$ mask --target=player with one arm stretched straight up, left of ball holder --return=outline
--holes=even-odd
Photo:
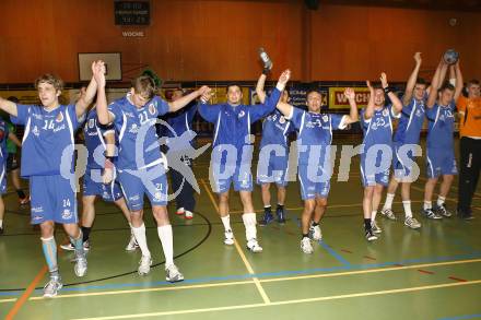
[[[394,154],[392,169],[394,175],[387,188],[386,202],[380,213],[389,218],[396,220],[392,212],[392,200],[395,199],[396,189],[401,183],[402,206],[404,208],[404,225],[417,229],[421,227],[421,223],[412,216],[411,210],[411,182],[419,175],[419,168],[415,165],[414,150],[419,149],[419,139],[424,122],[425,100],[426,100],[426,83],[423,79],[418,78],[421,68],[421,52],[414,55],[415,67],[409,76],[406,85],[404,95],[402,97],[402,111],[399,119],[398,128],[394,137]],[[415,166],[417,171],[413,171]]]

